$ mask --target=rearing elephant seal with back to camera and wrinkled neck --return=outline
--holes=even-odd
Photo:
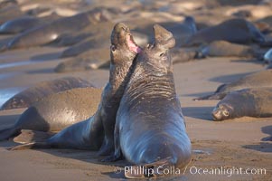
[[[117,111],[115,154],[105,161],[123,154],[136,165],[157,167],[153,163],[166,159],[165,167],[183,168],[190,162],[192,150],[168,54],[175,40],[158,24],[154,33],[155,43],[137,56]]]

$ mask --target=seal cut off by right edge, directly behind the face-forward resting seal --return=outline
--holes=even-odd
[[[221,100],[230,91],[260,87],[272,87],[272,70],[258,71],[242,77],[238,81],[222,84],[213,94],[194,100]]]

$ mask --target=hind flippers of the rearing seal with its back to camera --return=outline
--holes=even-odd
[[[131,166],[125,168],[125,176],[127,178],[150,178],[150,177],[163,177],[164,169],[174,167],[172,163],[172,157],[166,157],[164,159],[161,159],[159,161],[145,164],[143,166]]]

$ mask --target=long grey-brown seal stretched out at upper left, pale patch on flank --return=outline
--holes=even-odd
[[[64,33],[77,32],[82,28],[87,27],[89,24],[97,24],[100,21],[106,20],[108,20],[108,18],[100,9],[94,9],[71,17],[64,17],[53,21],[51,24],[43,24],[18,34],[13,40],[7,43],[6,47],[2,48],[2,51],[5,49],[10,50],[52,43],[57,39],[60,39],[61,35]]]

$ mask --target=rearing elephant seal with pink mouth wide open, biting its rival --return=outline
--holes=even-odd
[[[116,24],[111,34],[111,62],[109,81],[102,92],[94,116],[61,130],[42,143],[30,143],[21,148],[78,148],[99,150],[99,155],[109,155],[114,150],[114,128],[117,109],[125,86],[130,78],[136,53],[140,48],[134,43],[125,24]]]

